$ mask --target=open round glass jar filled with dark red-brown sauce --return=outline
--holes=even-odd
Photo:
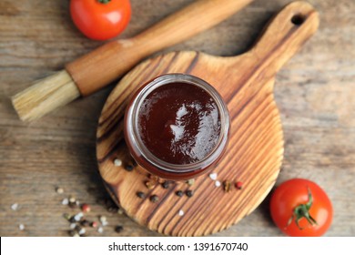
[[[167,74],[140,87],[127,105],[125,139],[137,164],[161,179],[195,179],[228,144],[228,108],[197,76]]]

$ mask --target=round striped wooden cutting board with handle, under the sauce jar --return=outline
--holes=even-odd
[[[273,97],[275,75],[319,26],[314,8],[305,2],[284,7],[258,42],[240,56],[172,52],[147,59],[131,70],[112,91],[97,128],[96,156],[107,190],[127,215],[150,230],[171,236],[201,236],[225,230],[256,209],[275,184],[283,158],[279,110]],[[148,80],[167,73],[185,73],[217,88],[228,105],[231,133],[224,158],[212,172],[220,183],[236,181],[242,189],[226,192],[208,174],[195,183],[174,182],[168,189],[147,174],[127,170],[133,164],[123,142],[127,98]],[[115,159],[122,166],[115,166]],[[177,190],[194,195],[178,197]],[[145,199],[137,192],[146,194]],[[149,198],[157,195],[158,201]]]

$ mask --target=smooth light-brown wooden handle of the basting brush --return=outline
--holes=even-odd
[[[146,56],[217,25],[252,0],[199,0],[131,39],[97,48],[66,66],[82,96],[122,76]]]

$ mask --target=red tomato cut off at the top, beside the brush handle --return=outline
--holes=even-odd
[[[131,17],[129,0],[71,0],[70,14],[87,37],[107,40],[118,36]]]

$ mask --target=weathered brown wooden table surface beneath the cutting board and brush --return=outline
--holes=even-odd
[[[236,0],[237,1],[237,0]],[[62,205],[73,195],[91,205],[87,219],[105,215],[102,234],[158,236],[110,202],[96,166],[96,123],[115,84],[78,99],[35,123],[22,123],[9,97],[35,79],[53,74],[100,46],[73,26],[63,0],[0,1],[0,236],[67,236]],[[192,0],[132,0],[133,17],[120,37],[137,35]],[[220,25],[167,48],[233,56],[248,49],[271,15],[289,0],[256,0]],[[306,178],[329,194],[334,219],[327,236],[355,236],[355,2],[309,0],[320,12],[320,29],[279,72],[275,97],[285,136],[278,184]],[[64,189],[56,193],[56,187]],[[282,236],[269,216],[267,198],[237,225],[216,236]],[[17,203],[17,210],[11,209]],[[110,207],[110,206],[108,206]],[[25,230],[18,225],[24,224]],[[115,232],[115,226],[124,230]]]

